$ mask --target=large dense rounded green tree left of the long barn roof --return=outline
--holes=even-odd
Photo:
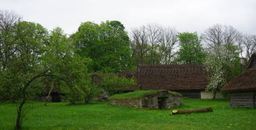
[[[117,72],[131,67],[129,36],[121,22],[85,22],[72,38],[77,53],[92,59],[92,71]]]

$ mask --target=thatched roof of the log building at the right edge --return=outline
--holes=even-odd
[[[251,56],[247,70],[237,75],[221,91],[255,91],[256,90],[256,53]]]

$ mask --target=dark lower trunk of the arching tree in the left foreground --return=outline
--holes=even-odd
[[[15,130],[20,130],[22,129],[22,107],[25,104],[26,99],[22,99],[22,102],[20,102],[19,107],[17,108],[17,119],[16,119],[16,125],[15,125]]]

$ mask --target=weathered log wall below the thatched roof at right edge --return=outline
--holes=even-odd
[[[255,108],[255,92],[230,92],[230,107]]]

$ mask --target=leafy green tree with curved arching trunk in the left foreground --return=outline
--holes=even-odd
[[[71,102],[78,94],[84,96],[82,88],[87,85],[91,60],[74,53],[75,46],[61,28],[49,35],[40,24],[19,22],[13,25],[11,38],[15,53],[8,56],[5,69],[0,69],[0,90],[3,96],[19,102],[15,129],[22,129],[26,101],[44,91],[43,77],[51,77],[63,90],[69,90]]]

